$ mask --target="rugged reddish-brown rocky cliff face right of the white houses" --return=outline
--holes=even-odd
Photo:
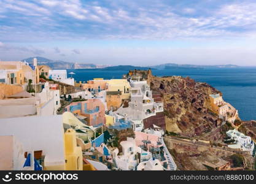
[[[212,112],[209,94],[220,93],[207,83],[180,76],[156,77],[151,71],[133,71],[147,80],[153,93],[161,93],[165,109],[166,131],[184,137],[201,137],[221,124]],[[214,137],[211,137],[214,139]]]

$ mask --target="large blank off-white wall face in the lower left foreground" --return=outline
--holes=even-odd
[[[43,150],[45,162],[64,164],[62,115],[6,118],[0,125],[0,136],[15,136],[24,151]]]

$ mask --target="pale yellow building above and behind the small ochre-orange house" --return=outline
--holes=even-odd
[[[107,91],[122,91],[122,99],[130,99],[131,85],[126,79],[111,79],[107,82]]]

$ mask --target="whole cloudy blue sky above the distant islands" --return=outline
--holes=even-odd
[[[255,0],[0,0],[0,59],[256,66]]]

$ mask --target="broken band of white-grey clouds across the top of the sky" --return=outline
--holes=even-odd
[[[152,3],[150,3],[152,2]],[[189,1],[188,1],[189,2]],[[256,3],[31,0],[0,2],[5,39],[230,39],[256,31]],[[233,3],[232,3],[233,2]],[[17,16],[20,13],[23,16]],[[38,18],[41,17],[41,18]],[[239,28],[239,29],[238,29]],[[28,34],[29,30],[37,30]],[[20,36],[23,35],[23,36]],[[9,36],[10,35],[10,36]],[[35,37],[35,38],[34,38]],[[1,36],[0,36],[0,39]]]

